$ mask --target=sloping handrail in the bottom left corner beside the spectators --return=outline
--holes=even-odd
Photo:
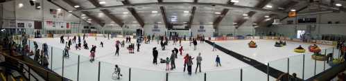
[[[22,61],[22,60],[18,60],[17,58],[12,57],[12,56],[10,56],[10,55],[7,55],[6,53],[3,53],[3,52],[1,52],[1,51],[0,51],[0,54],[3,55],[3,56],[5,56],[5,57],[9,57],[9,58],[12,59],[12,60],[16,60],[17,62],[21,62],[21,63],[23,63],[23,64],[26,64],[28,67],[33,67],[33,68],[38,69],[38,70],[40,70],[40,71],[44,71],[44,72],[46,72],[46,73],[50,73],[50,75],[55,75],[55,76],[58,76],[58,77],[62,78],[62,76],[59,75],[58,73],[53,73],[53,72],[51,72],[51,71],[49,71],[49,70],[42,69],[41,67],[35,66],[35,65],[30,64],[30,63],[28,63],[28,62],[24,62],[24,61]],[[49,75],[49,74],[47,74],[47,75]]]

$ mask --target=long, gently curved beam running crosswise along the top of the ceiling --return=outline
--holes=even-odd
[[[268,12],[275,14],[287,14],[285,11],[278,10],[267,10],[263,8],[254,8],[250,6],[237,6],[230,5],[226,3],[194,3],[194,2],[149,2],[149,3],[131,3],[129,5],[118,5],[118,6],[104,6],[100,8],[87,8],[83,10],[75,11],[88,11],[88,10],[100,10],[100,9],[112,9],[112,8],[139,8],[139,7],[148,7],[148,6],[202,6],[202,7],[213,7],[213,8],[227,8],[230,10],[252,10],[256,12]]]

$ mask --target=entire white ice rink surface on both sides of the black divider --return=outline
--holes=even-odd
[[[69,37],[70,39],[72,37]],[[67,37],[64,38],[65,41]],[[83,39],[83,37],[81,38]],[[168,80],[203,80],[203,73],[196,73],[192,76],[183,73],[183,57],[186,53],[196,57],[198,53],[202,54],[202,72],[206,72],[209,77],[208,80],[240,80],[240,69],[243,69],[243,80],[266,80],[266,73],[263,73],[254,67],[241,62],[236,58],[223,53],[222,51],[212,51],[213,47],[207,43],[200,43],[198,41],[197,50],[193,51],[193,45],[189,45],[188,41],[183,41],[182,46],[184,48],[183,55],[178,55],[178,59],[175,60],[177,66],[176,69],[172,71],[165,71],[166,64],[153,64],[153,47],[157,47],[159,51],[158,58],[170,57],[171,50],[173,48],[179,48],[179,44],[173,45],[173,42],[168,42],[166,50],[162,51],[161,46],[157,44],[156,40],[151,41],[150,44],[141,44],[140,51],[137,52],[137,45],[135,45],[135,53],[128,53],[125,45],[124,48],[121,48],[119,56],[114,55],[115,53],[115,41],[122,41],[123,38],[113,38],[107,39],[105,37],[87,37],[87,43],[89,48],[92,45],[96,45],[96,61],[89,62],[89,50],[81,48],[81,50],[76,50],[74,46],[71,45],[70,57],[64,59],[64,76],[71,79],[77,79],[77,69],[78,69],[78,55],[80,55],[80,78],[79,80],[83,81],[93,81],[97,80],[98,75],[98,62],[101,62],[101,80],[112,80],[112,72],[114,69],[114,64],[119,64],[122,69],[123,77],[121,80],[127,80],[129,69],[131,68],[132,80],[141,80],[140,78],[148,78],[148,80],[164,80],[166,73],[169,72]],[[288,60],[290,58],[290,74],[297,73],[298,78],[301,78],[302,75],[302,55],[305,54],[305,69],[304,73],[306,78],[309,78],[313,75],[311,69],[313,68],[314,60],[311,60],[311,54],[309,51],[306,53],[295,53],[293,49],[299,45],[302,45],[303,48],[306,48],[311,44],[300,43],[300,42],[287,42],[287,46],[278,48],[275,47],[275,40],[269,39],[253,39],[257,43],[257,48],[249,48],[248,42],[250,40],[230,40],[230,41],[218,41],[216,44],[223,46],[230,51],[240,53],[246,57],[250,57],[254,60],[257,60],[263,64],[269,63],[275,69],[278,69],[283,72],[287,72]],[[40,38],[40,39],[31,39],[31,48],[33,48],[33,41],[39,44],[39,48],[42,48],[43,43],[47,43],[51,51],[53,47],[53,60],[49,63],[50,68],[53,71],[62,74],[62,49],[64,49],[65,44],[60,44],[60,38]],[[77,39],[78,42],[78,39]],[[101,47],[100,43],[104,43],[104,47]],[[132,39],[132,43],[135,43],[135,39]],[[83,42],[82,42],[83,43]],[[83,46],[83,45],[82,45]],[[318,45],[320,48],[331,48],[332,46],[327,45]],[[331,51],[328,51],[331,52]],[[310,54],[310,55],[309,55]],[[51,55],[51,54],[50,54]],[[216,55],[219,55],[221,58],[222,66],[216,67],[215,58]],[[51,59],[51,58],[50,58]],[[159,61],[159,60],[158,60]],[[196,60],[193,60],[192,71],[195,72]],[[323,62],[318,62],[318,64],[323,64]],[[327,65],[326,65],[327,66]],[[320,68],[320,67],[319,67]],[[313,69],[312,69],[313,70]],[[322,71],[320,71],[322,72]],[[146,75],[148,74],[148,75]],[[256,79],[255,79],[256,78]],[[275,78],[270,77],[270,80],[275,80]]]

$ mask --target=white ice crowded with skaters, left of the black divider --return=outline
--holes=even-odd
[[[70,39],[72,37],[69,37]],[[65,41],[67,37],[64,38]],[[83,37],[81,38],[83,40]],[[193,51],[193,45],[190,46],[189,41],[182,41],[182,46],[184,48],[183,55],[178,54],[178,59],[175,60],[176,69],[172,71],[166,71],[166,64],[153,64],[153,47],[157,47],[159,51],[159,58],[165,59],[166,57],[170,57],[171,50],[173,48],[179,49],[179,44],[177,42],[177,45],[173,45],[173,42],[168,42],[168,46],[166,46],[166,50],[162,51],[161,46],[157,44],[156,40],[150,42],[150,44],[144,44],[141,43],[140,51],[137,52],[137,45],[135,45],[135,53],[128,53],[128,50],[126,47],[128,44],[125,45],[124,48],[121,48],[119,56],[114,55],[115,53],[115,41],[120,40],[122,41],[123,38],[113,38],[113,39],[107,39],[105,37],[87,37],[87,43],[89,48],[92,45],[96,45],[96,61],[95,62],[89,62],[89,50],[85,50],[81,48],[81,50],[76,50],[74,46],[76,44],[71,45],[70,56],[67,59],[64,59],[64,75],[67,76],[67,78],[72,78],[72,80],[76,80],[76,67],[78,62],[78,55],[80,55],[80,76],[83,76],[82,80],[90,80],[90,79],[97,79],[97,70],[98,70],[98,61],[101,61],[101,71],[111,72],[113,71],[114,64],[119,64],[122,68],[128,69],[131,67],[132,71],[144,71],[145,73],[166,73],[171,72],[171,75],[176,75],[177,77],[180,77],[180,74],[182,74],[184,77],[187,73],[182,73],[184,69],[184,55],[186,53],[189,53],[192,57],[197,57],[198,53],[201,53],[202,56],[202,72],[213,72],[213,71],[230,71],[232,69],[240,69],[241,67],[250,66],[248,64],[245,64],[244,62],[241,62],[240,60],[236,60],[236,58],[227,55],[223,53],[222,51],[212,51],[213,47],[207,43],[200,43],[198,42],[197,50]],[[65,44],[60,44],[60,38],[40,38],[40,39],[31,39],[31,42],[37,42],[39,44],[39,48],[42,48],[42,44],[46,43],[49,46],[53,46],[53,71],[57,73],[62,73],[62,49],[64,49]],[[77,39],[78,42],[78,39]],[[101,47],[100,43],[103,42],[104,46]],[[132,39],[132,43],[135,43],[135,39]],[[31,47],[33,47],[31,43]],[[82,42],[83,44],[83,42]],[[82,45],[83,46],[83,45]],[[58,49],[58,50],[56,50]],[[51,49],[50,49],[51,50]],[[215,59],[216,55],[220,56],[221,64],[222,66],[216,67]],[[158,60],[159,62],[159,60]],[[196,60],[193,60],[193,66],[192,71],[195,72],[196,69]],[[50,63],[51,64],[51,63]],[[51,66],[51,65],[50,65]],[[102,68],[105,67],[106,69]],[[83,74],[83,71],[89,70],[90,72],[94,73],[92,75]],[[125,71],[125,70],[124,70]],[[126,72],[126,71],[125,71]],[[236,75],[239,72],[236,72]],[[132,73],[135,74],[135,73]],[[69,77],[71,76],[72,77]],[[85,77],[85,75],[90,77]],[[143,74],[141,74],[143,75]],[[200,75],[203,75],[203,73],[200,73]],[[102,76],[102,75],[101,75]],[[109,75],[107,75],[109,76]],[[155,76],[155,75],[154,75]],[[189,76],[189,75],[187,75]],[[186,76],[185,76],[186,77]],[[198,79],[203,79],[203,76],[196,76]],[[135,78],[133,76],[133,78]],[[162,78],[165,78],[162,76]]]

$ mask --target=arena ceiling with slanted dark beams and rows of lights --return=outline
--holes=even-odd
[[[286,19],[290,10],[300,11],[309,0],[50,0],[89,23],[187,24],[218,26],[268,25]],[[316,1],[316,0],[315,0]],[[319,1],[319,0],[318,0]],[[329,8],[344,8],[343,0],[320,0]],[[335,6],[340,3],[343,6]]]

